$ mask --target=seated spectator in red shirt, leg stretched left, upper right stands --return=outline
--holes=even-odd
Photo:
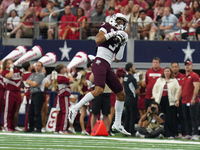
[[[177,27],[182,27],[181,29],[181,33],[182,33],[182,38],[183,39],[187,39],[188,37],[188,30],[189,30],[189,22],[192,20],[193,16],[190,13],[190,7],[186,6],[184,9],[184,12],[182,13],[182,15],[179,18],[179,21],[177,23]],[[182,23],[182,24],[181,24]],[[181,25],[180,25],[181,24]],[[168,33],[166,35],[166,38],[169,38],[169,40],[174,40],[175,38],[179,38],[180,37],[180,30],[176,31],[176,32],[171,32]],[[178,34],[178,36],[176,37],[176,35]]]

